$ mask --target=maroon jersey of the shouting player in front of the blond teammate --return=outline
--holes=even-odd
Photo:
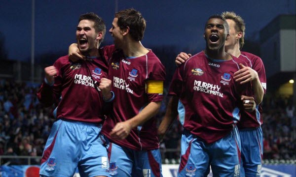
[[[169,94],[178,96],[179,117],[191,134],[213,143],[227,135],[239,121],[239,102],[243,87],[233,80],[239,63],[209,59],[200,52],[178,67]]]

